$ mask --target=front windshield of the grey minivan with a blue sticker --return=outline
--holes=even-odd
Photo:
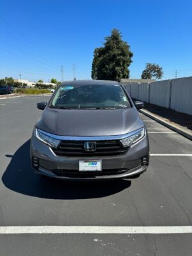
[[[63,84],[54,96],[51,108],[121,109],[130,108],[120,84]]]

